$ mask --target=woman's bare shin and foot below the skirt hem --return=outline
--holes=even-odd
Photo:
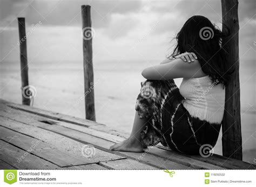
[[[110,147],[110,150],[119,150],[123,152],[143,152],[143,143],[140,132],[147,123],[146,118],[139,118],[136,111],[132,132],[129,138]]]

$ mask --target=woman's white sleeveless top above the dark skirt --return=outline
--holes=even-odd
[[[183,105],[192,117],[220,124],[224,115],[225,89],[223,84],[211,81],[207,75],[200,78],[183,78],[180,94]]]

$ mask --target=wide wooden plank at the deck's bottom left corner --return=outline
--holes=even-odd
[[[59,169],[55,164],[28,154],[2,140],[0,140],[0,159],[17,169]]]

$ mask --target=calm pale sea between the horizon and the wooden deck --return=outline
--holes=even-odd
[[[154,61],[93,62],[96,120],[118,131],[130,132],[134,105],[144,78],[141,71]],[[175,80],[179,86],[181,79]],[[36,88],[33,106],[85,118],[83,61],[29,63],[29,84]],[[0,97],[21,103],[18,61],[0,64]],[[240,60],[241,128],[244,161],[256,157],[255,63]],[[82,99],[81,99],[82,98]],[[221,133],[214,153],[222,154]]]

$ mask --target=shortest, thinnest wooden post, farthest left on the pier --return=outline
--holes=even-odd
[[[21,58],[21,80],[22,80],[22,104],[30,105],[30,98],[26,96],[29,93],[27,86],[29,85],[29,75],[28,75],[28,57],[26,55],[26,29],[25,29],[25,18],[18,18],[19,27],[19,50]]]

